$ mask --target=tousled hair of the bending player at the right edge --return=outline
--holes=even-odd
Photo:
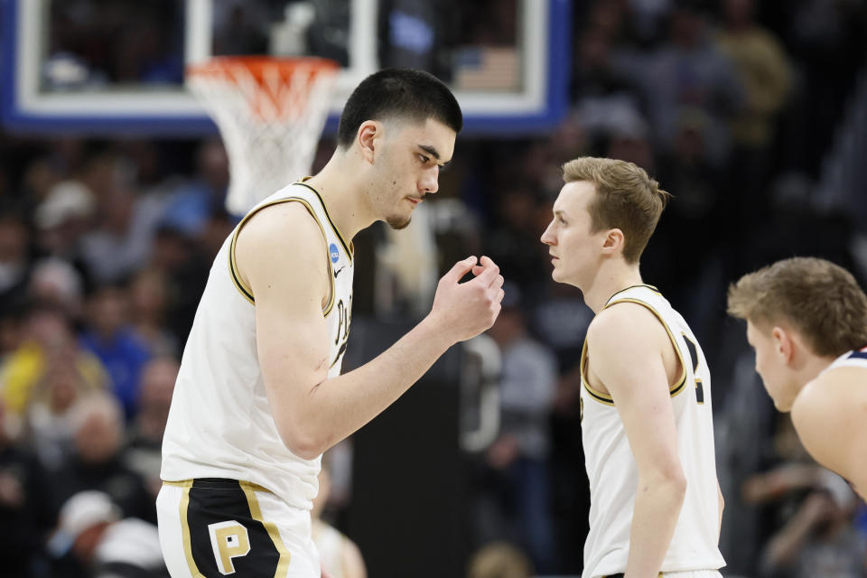
[[[851,273],[825,259],[794,257],[729,286],[729,314],[767,331],[786,322],[816,355],[867,345],[867,295]]]

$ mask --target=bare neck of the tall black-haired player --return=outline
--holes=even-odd
[[[347,241],[376,220],[368,214],[363,195],[357,194],[358,182],[353,178],[357,172],[350,166],[350,155],[336,151],[322,171],[307,181],[322,195],[331,220]]]

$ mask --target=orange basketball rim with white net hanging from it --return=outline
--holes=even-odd
[[[226,146],[226,209],[243,215],[310,172],[337,62],[322,58],[217,57],[187,67],[187,86]]]

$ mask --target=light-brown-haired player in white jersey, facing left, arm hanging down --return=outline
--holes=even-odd
[[[718,577],[710,372],[683,317],[639,273],[669,195],[633,163],[583,157],[563,170],[542,242],[554,280],[596,313],[581,359],[583,578]]]

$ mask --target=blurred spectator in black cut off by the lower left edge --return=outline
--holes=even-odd
[[[0,401],[0,568],[9,578],[29,578],[57,511],[49,475],[18,442],[15,421]]]

